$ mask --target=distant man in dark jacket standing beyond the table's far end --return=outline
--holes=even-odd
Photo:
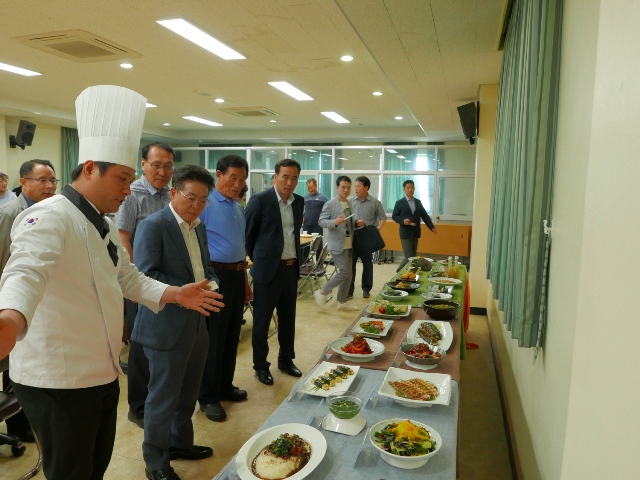
[[[400,225],[400,242],[404,252],[404,260],[396,270],[398,272],[407,264],[409,257],[415,257],[417,254],[418,239],[421,233],[420,219],[424,220],[434,235],[438,233],[431,217],[422,206],[422,202],[413,196],[416,190],[413,180],[405,180],[402,188],[404,188],[405,196],[396,202],[391,214],[393,221]]]

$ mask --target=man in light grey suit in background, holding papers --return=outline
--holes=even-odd
[[[316,290],[314,296],[318,305],[324,306],[331,290],[338,287],[338,310],[359,310],[355,305],[347,303],[351,284],[351,247],[355,228],[351,200],[349,200],[351,179],[346,175],[339,176],[336,187],[338,195],[324,204],[318,224],[328,231],[327,248],[338,272],[323,288]]]

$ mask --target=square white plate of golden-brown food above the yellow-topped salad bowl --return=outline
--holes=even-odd
[[[423,373],[391,367],[380,385],[378,393],[405,407],[419,408],[449,405],[451,401],[451,375]]]

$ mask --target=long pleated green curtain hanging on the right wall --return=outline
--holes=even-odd
[[[561,24],[561,0],[514,0],[500,72],[487,278],[520,347],[543,341]]]

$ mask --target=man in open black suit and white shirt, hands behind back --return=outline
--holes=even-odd
[[[300,227],[304,199],[293,191],[300,164],[284,159],[276,163],[273,188],[252,195],[246,209],[246,248],[253,261],[253,369],[258,380],[273,385],[269,371],[269,323],[278,309],[278,369],[301,377],[293,363],[296,300],[300,276]]]

